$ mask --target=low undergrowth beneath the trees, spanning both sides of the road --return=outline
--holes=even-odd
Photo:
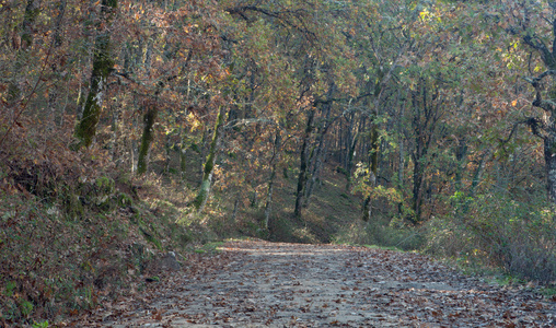
[[[316,189],[302,220],[288,207],[294,179],[280,178],[277,210],[266,231],[260,206],[247,206],[232,216],[233,203],[218,192],[206,213],[193,215],[188,206],[195,194],[185,185],[193,185],[195,176],[189,183],[155,173],[134,178],[102,168],[109,164],[97,160],[100,150],[78,154],[55,152],[53,147],[32,151],[8,147],[0,154],[4,326],[57,323],[91,311],[104,301],[141,291],[149,277],[165,277],[169,272],[155,266],[159,255],[174,251],[187,266],[186,254],[204,251],[199,246],[242,236],[424,250],[475,273],[499,268],[496,272],[521,281],[548,288],[554,283],[555,230],[547,211],[467,199],[467,214],[460,221],[433,219],[415,227],[389,219],[384,211],[364,222],[361,198],[348,192],[346,177],[328,165],[320,181],[325,187]],[[457,206],[463,204],[454,206],[454,214]]]

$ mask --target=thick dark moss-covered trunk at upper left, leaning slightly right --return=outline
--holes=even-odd
[[[76,128],[76,137],[79,142],[73,147],[76,150],[81,147],[90,147],[96,134],[96,125],[99,124],[106,80],[114,67],[114,58],[111,51],[111,34],[104,30],[103,25],[109,25],[112,16],[116,11],[117,0],[102,0],[101,24],[97,26],[99,35],[94,44],[93,71],[91,73],[91,85],[89,95],[83,106],[83,115]]]

